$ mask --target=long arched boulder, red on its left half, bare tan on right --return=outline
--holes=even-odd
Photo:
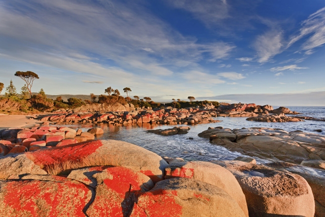
[[[149,176],[153,182],[162,180],[168,163],[159,155],[137,145],[117,140],[93,140],[47,150],[37,150],[30,155],[37,165],[51,167],[66,161],[80,162],[86,166],[123,166]]]

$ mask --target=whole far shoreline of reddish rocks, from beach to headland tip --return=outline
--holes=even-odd
[[[206,105],[203,108],[134,108],[130,105],[123,107],[122,111],[116,112],[85,112],[82,109],[57,110],[54,114],[40,116],[41,121],[53,124],[66,123],[107,123],[112,125],[128,125],[150,123],[152,125],[176,125],[176,124],[206,124],[216,123],[213,117],[248,117],[249,121],[262,122],[297,122],[308,119],[307,117],[291,117],[285,114],[299,114],[290,111],[288,108],[272,106],[258,106],[255,104],[228,104],[215,108],[213,105]],[[127,109],[126,109],[127,108]]]

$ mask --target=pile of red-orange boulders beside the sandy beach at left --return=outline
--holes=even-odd
[[[87,132],[56,126],[4,129],[0,130],[0,156],[79,143],[92,140],[95,135],[103,133],[99,127]]]

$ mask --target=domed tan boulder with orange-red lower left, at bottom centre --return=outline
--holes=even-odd
[[[159,181],[138,196],[130,216],[245,216],[222,189],[194,179]]]

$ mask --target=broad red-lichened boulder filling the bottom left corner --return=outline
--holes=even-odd
[[[0,216],[86,216],[93,194],[83,183],[63,177],[0,181]]]

